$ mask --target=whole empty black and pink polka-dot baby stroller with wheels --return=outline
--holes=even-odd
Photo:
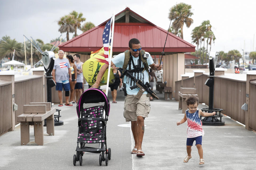
[[[108,165],[108,160],[111,159],[111,149],[107,150],[106,142],[109,111],[109,99],[102,90],[89,88],[81,95],[77,102],[78,138],[75,150],[77,153],[73,156],[74,166],[77,161],[80,166],[82,165],[84,154],[100,154],[99,165],[102,165],[102,161],[106,162],[106,166]]]

